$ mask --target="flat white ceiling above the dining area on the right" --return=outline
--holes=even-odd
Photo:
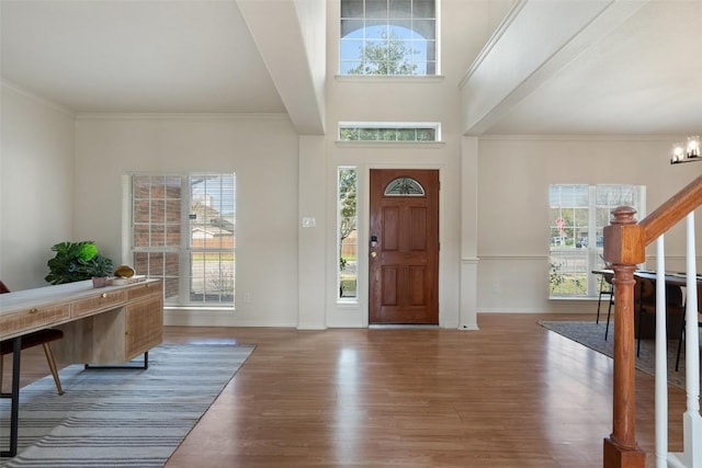
[[[700,135],[702,1],[639,3],[488,133]]]

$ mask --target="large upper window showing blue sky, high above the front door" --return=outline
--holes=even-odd
[[[341,75],[437,75],[435,0],[341,0]]]

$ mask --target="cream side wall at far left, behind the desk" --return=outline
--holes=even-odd
[[[45,286],[50,247],[72,237],[73,116],[8,83],[0,102],[0,279]]]

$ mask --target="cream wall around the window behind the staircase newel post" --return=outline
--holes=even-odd
[[[593,311],[591,301],[548,299],[548,185],[646,185],[650,213],[697,175],[670,165],[669,148],[665,137],[480,138],[478,311]],[[682,227],[666,235],[666,254],[669,270],[681,267]]]

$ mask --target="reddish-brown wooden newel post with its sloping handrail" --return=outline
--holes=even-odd
[[[660,205],[642,221],[636,210],[620,206],[604,228],[604,261],[614,277],[614,381],[612,433],[604,438],[604,468],[645,468],[646,454],[636,443],[634,271],[646,261],[646,246],[702,205],[702,176]]]

